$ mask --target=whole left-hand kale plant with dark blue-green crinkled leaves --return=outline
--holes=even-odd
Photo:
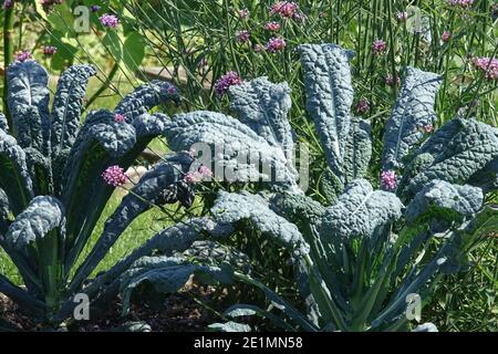
[[[123,198],[93,250],[76,267],[113,192],[103,173],[107,170],[108,183],[117,184],[122,170],[112,169],[117,173],[112,175],[108,167],[128,168],[169,121],[165,114],[148,112],[169,101],[179,102],[175,86],[154,81],[126,95],[114,112],[90,112],[83,121],[85,86],[95,74],[90,65],[68,69],[50,110],[49,75],[40,64],[18,61],[7,70],[10,117],[0,114],[0,246],[24,287],[0,274],[0,292],[51,326],[72,316],[75,294],[84,293],[92,304],[102,304],[117,293],[120,287],[113,281],[122,273],[133,266],[133,272],[126,273],[132,282],[138,267],[147,267],[146,262],[134,264],[136,259],[156,249],[165,253],[181,250],[184,238],[212,225],[190,220],[159,232],[108,272],[90,279],[141,214],[164,204],[191,205],[194,189],[184,177],[193,157],[186,153],[167,156]],[[180,259],[170,263],[181,267]]]

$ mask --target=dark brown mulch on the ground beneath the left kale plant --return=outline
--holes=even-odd
[[[193,287],[189,291],[206,302],[209,301],[214,292],[212,289],[207,289],[206,291],[200,287]],[[151,306],[143,301],[132,302],[129,314],[124,317],[121,315],[121,299],[116,299],[98,319],[73,323],[70,325],[70,331],[125,331],[123,325],[129,322],[143,322],[151,326],[153,332],[205,331],[206,326],[215,321],[212,313],[198,304],[190,293],[178,292],[168,295],[159,305],[156,304],[155,306]],[[2,294],[0,294],[1,317],[12,323],[19,331],[43,330],[40,325],[33,323],[28,315],[23,314],[18,305]]]

